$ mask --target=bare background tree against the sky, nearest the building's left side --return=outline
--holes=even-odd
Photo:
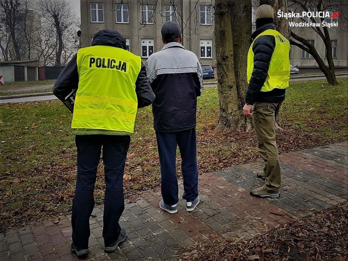
[[[67,0],[39,0],[37,7],[41,15],[41,23],[45,28],[54,28],[56,48],[55,65],[61,66],[62,53],[68,48],[71,28],[76,25],[76,15]],[[50,32],[52,33],[52,32]]]

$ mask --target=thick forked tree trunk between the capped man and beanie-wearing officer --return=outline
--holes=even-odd
[[[220,117],[217,129],[250,129],[242,114],[246,80],[246,56],[251,34],[251,1],[215,1],[215,44]],[[235,17],[235,19],[234,19]],[[233,32],[233,33],[232,33]]]

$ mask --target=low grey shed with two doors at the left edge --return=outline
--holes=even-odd
[[[0,76],[4,82],[24,82],[38,80],[39,60],[0,62]]]

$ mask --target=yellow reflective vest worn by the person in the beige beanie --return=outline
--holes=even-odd
[[[247,79],[250,82],[251,75],[254,69],[254,52],[253,45],[256,39],[262,35],[273,35],[276,46],[274,48],[271,62],[269,64],[268,75],[264,82],[261,91],[271,91],[275,88],[285,89],[289,87],[290,79],[290,42],[278,31],[269,29],[260,33],[251,43],[248,52]]]

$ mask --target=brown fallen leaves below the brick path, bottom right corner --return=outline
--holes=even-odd
[[[238,242],[200,243],[193,261],[343,261],[348,260],[348,202]],[[186,252],[185,256],[190,253]]]

